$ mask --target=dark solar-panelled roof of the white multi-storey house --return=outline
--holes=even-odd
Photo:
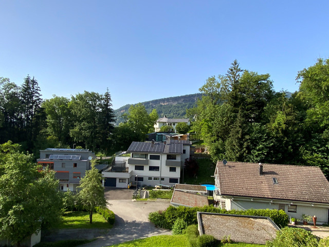
[[[128,152],[142,152],[142,153],[183,153],[182,144],[167,144],[162,142],[132,142],[127,150]]]

